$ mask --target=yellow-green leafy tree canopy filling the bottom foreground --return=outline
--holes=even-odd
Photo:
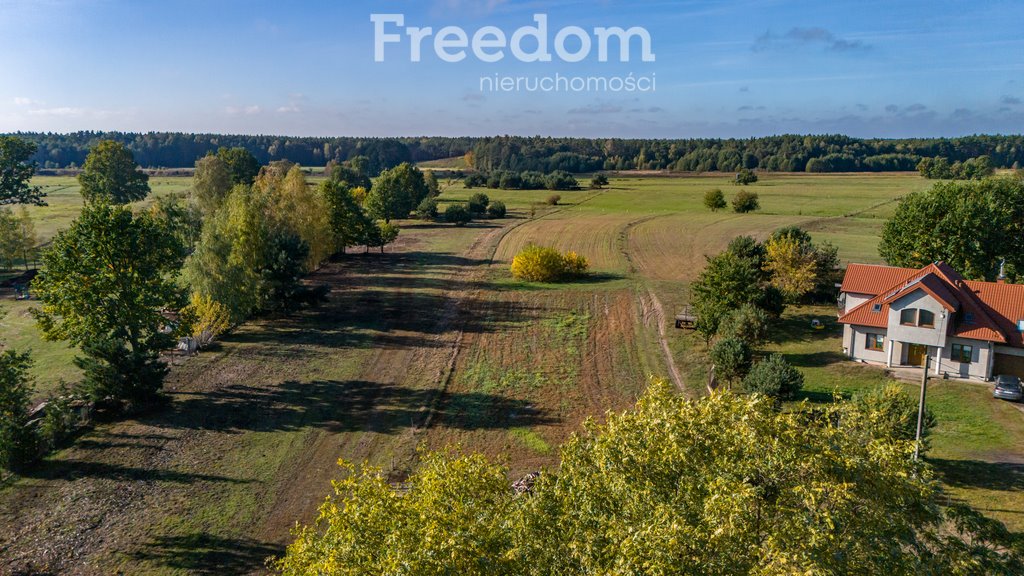
[[[780,412],[657,383],[588,422],[524,493],[479,455],[429,455],[403,490],[347,466],[284,574],[1007,574],[998,523],[944,509],[871,404]],[[944,498],[942,499],[945,500]],[[968,543],[969,542],[969,543]]]

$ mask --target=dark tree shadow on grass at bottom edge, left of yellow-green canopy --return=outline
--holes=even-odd
[[[266,559],[284,553],[281,547],[248,538],[221,538],[205,532],[186,536],[158,536],[130,557],[187,574],[242,574]]]

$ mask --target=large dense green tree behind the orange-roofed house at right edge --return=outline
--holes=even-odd
[[[965,277],[994,280],[999,264],[1024,275],[1024,180],[990,177],[937,182],[907,195],[882,231],[879,253],[892,265],[943,260]]]

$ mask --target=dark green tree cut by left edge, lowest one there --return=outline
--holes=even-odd
[[[32,380],[28,353],[0,352],[0,469],[16,469],[36,456],[36,436],[29,428]]]

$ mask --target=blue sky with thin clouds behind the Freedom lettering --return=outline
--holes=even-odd
[[[403,16],[402,27],[383,25],[399,38],[383,44],[383,61],[372,14]],[[537,14],[547,18],[551,61],[521,61],[508,46],[480,47],[503,54],[483,61],[469,46],[452,63],[435,48],[445,27],[468,41],[494,27],[508,44]],[[1019,0],[0,0],[0,132],[1020,133],[1022,24]],[[410,29],[426,27],[432,34],[413,61]],[[591,44],[581,61],[555,49],[568,27],[577,29],[560,46],[569,56],[583,52],[578,33]],[[616,41],[600,61],[595,31],[613,27],[645,30],[653,61],[640,37],[629,61]],[[458,44],[453,35],[441,40]],[[521,46],[540,48],[529,35]],[[508,77],[542,86],[556,76],[608,86],[646,79],[651,89],[485,85]]]

